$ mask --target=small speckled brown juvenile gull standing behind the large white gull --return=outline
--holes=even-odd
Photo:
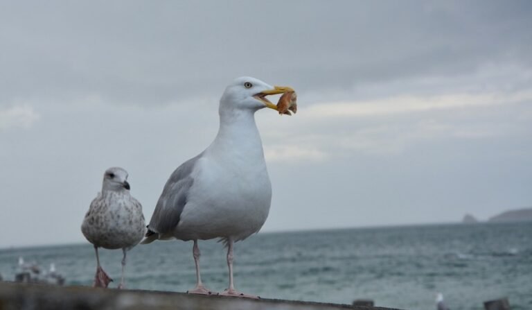
[[[130,194],[127,171],[118,167],[105,171],[102,191],[92,200],[81,231],[96,251],[95,287],[107,287],[112,282],[100,266],[98,248],[122,249],[124,256],[118,289],[123,289],[126,252],[139,244],[145,234],[142,206]]]

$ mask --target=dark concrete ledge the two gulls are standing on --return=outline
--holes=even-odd
[[[87,286],[52,286],[0,282],[0,310],[393,310],[382,307],[351,306],[290,300],[248,300],[222,296],[188,295],[159,291],[93,289]],[[398,309],[395,309],[398,310]]]

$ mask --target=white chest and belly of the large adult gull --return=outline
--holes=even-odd
[[[256,127],[253,127],[256,130]],[[198,160],[174,235],[179,239],[231,237],[235,241],[260,230],[272,201],[258,132],[218,141]]]

